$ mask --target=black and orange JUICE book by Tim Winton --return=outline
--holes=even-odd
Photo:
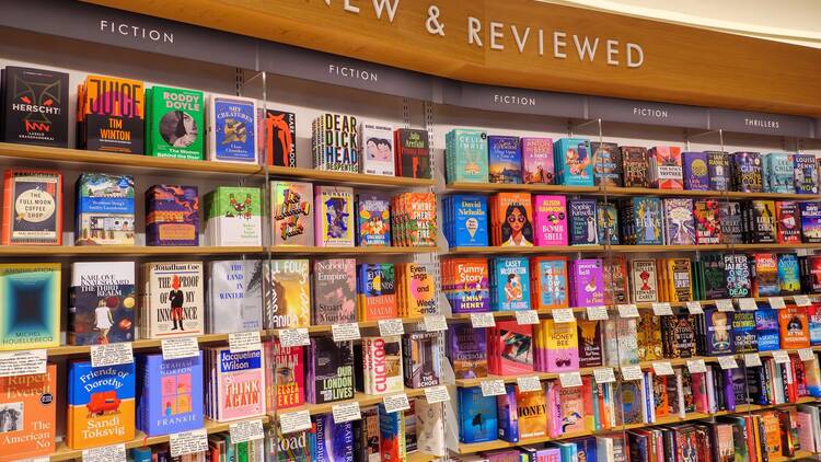
[[[139,80],[88,76],[77,95],[78,145],[90,151],[141,154],[144,89]]]

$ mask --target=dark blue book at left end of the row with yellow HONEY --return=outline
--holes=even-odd
[[[496,396],[483,396],[482,388],[458,389],[459,394],[459,440],[482,442],[495,440],[498,434]]]

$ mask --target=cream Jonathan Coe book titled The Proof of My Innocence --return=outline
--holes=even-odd
[[[205,333],[201,262],[146,263],[140,337]]]

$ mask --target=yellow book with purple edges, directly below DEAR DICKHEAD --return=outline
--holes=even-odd
[[[314,190],[314,244],[354,246],[354,189],[316,186]]]

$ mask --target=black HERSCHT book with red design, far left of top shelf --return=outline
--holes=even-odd
[[[7,66],[2,71],[0,139],[19,145],[68,148],[69,76]]]

